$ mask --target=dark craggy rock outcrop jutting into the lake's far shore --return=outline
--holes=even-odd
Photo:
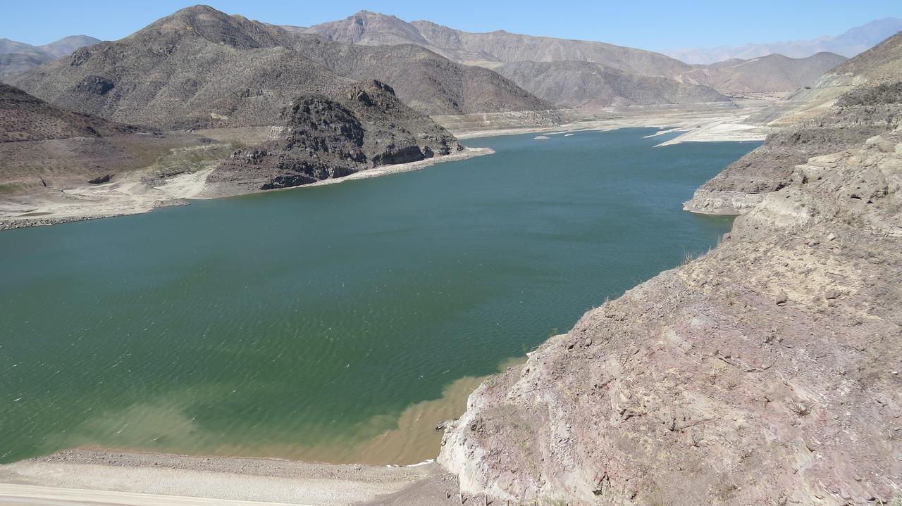
[[[351,86],[340,99],[301,96],[284,116],[277,139],[236,150],[207,177],[214,193],[307,185],[463,149],[379,81]]]

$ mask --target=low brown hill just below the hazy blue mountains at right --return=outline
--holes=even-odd
[[[729,59],[697,66],[680,77],[684,82],[704,83],[722,93],[788,92],[814,86],[825,73],[846,60],[821,52],[803,59],[778,54],[756,59]]]

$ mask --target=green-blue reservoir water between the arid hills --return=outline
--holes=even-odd
[[[0,461],[302,457],[392,429],[729,229],[680,203],[759,143],[653,132],[0,233]]]

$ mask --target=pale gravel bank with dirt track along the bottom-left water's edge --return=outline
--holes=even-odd
[[[77,450],[0,465],[2,504],[441,504],[451,503],[447,492],[456,487],[454,476],[435,463],[329,465]],[[396,495],[410,501],[394,501]]]

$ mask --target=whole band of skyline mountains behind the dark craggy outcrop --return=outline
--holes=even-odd
[[[864,48],[897,22],[818,41]],[[690,65],[603,42],[462,32],[369,11],[300,27],[201,5],[85,48],[97,42],[77,36],[38,47],[2,40],[0,78],[74,111],[175,128],[272,124],[292,94],[361,79],[387,83],[422,113],[501,113],[727,102],[727,95],[813,86],[845,60],[828,51],[804,58],[746,51],[750,58]],[[51,62],[73,50],[71,61]]]

